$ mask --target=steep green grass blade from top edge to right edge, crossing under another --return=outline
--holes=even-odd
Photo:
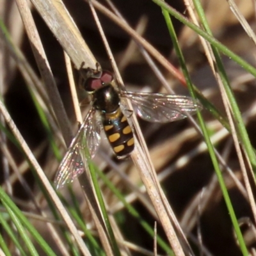
[[[202,9],[202,6],[199,1],[194,0],[196,11],[198,12],[198,15],[200,17],[200,20],[207,31],[209,35],[212,35],[211,29],[209,28],[209,25],[207,24],[206,17],[204,15],[204,10]],[[243,147],[246,151],[246,154],[248,158],[250,159],[250,163],[252,164],[253,171],[256,173],[256,156],[253,152],[253,147],[250,142],[248,133],[246,131],[246,127],[244,126],[243,118],[241,116],[240,110],[237,106],[236,99],[234,97],[234,93],[232,92],[232,88],[230,84],[228,83],[227,74],[225,73],[225,68],[223,67],[223,63],[221,61],[220,53],[218,50],[212,46],[212,51],[214,52],[214,56],[216,58],[217,68],[220,71],[221,81],[223,82],[225,91],[227,93],[228,100],[230,102],[230,106],[232,108],[232,113],[234,115],[234,119],[236,120],[236,125],[239,131],[239,138],[243,142]]]

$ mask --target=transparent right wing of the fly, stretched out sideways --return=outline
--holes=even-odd
[[[167,123],[193,115],[202,105],[191,97],[164,93],[121,92],[121,97],[131,100],[138,116],[147,122]]]

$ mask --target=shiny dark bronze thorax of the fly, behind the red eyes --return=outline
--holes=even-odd
[[[103,113],[114,113],[120,108],[120,97],[111,84],[93,93],[93,106]]]

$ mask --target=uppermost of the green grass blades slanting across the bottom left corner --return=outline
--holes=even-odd
[[[3,191],[3,189],[0,187],[0,198],[4,205],[6,205],[6,209],[10,209],[15,216],[17,216],[17,219],[20,221],[20,223],[27,228],[27,230],[30,232],[31,236],[34,237],[34,239],[38,242],[38,244],[41,246],[41,248],[44,250],[46,255],[56,255],[51,247],[45,242],[45,240],[40,236],[40,234],[37,232],[37,230],[31,225],[31,223],[26,219],[26,217],[22,214],[22,212],[19,210],[19,208],[12,202],[12,200],[9,198],[8,195]]]

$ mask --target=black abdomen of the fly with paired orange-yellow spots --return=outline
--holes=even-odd
[[[129,156],[134,149],[134,137],[131,126],[122,111],[102,116],[104,131],[118,158]]]

